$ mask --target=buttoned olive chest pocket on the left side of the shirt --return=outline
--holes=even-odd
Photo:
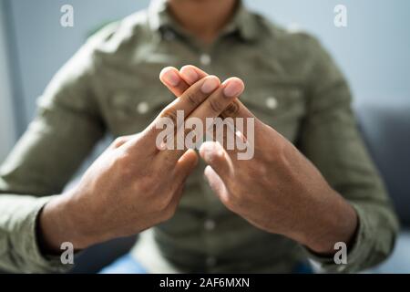
[[[109,100],[109,128],[114,135],[128,135],[147,128],[175,97],[164,91],[118,91]]]

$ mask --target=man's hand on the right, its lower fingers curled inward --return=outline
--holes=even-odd
[[[192,66],[178,73],[177,86],[162,80],[177,96],[207,76]],[[254,157],[248,161],[237,160],[236,151],[226,151],[218,142],[202,144],[200,156],[209,164],[205,177],[220,201],[251,224],[290,237],[317,253],[333,254],[336,242],[349,244],[357,226],[354,208],[333,191],[313,164],[239,100],[224,116],[253,117],[255,136]]]

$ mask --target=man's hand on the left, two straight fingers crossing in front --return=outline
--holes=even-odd
[[[172,84],[173,74],[165,68],[160,78]],[[146,130],[114,141],[75,189],[46,204],[38,225],[42,247],[57,252],[63,242],[70,242],[83,249],[168,220],[198,157],[192,150],[159,151],[160,118],[176,124],[177,110],[184,110],[185,118],[196,117],[205,124],[206,118],[218,117],[243,87],[238,78],[222,85],[216,77],[201,78],[162,110]],[[227,96],[226,92],[235,94]]]

